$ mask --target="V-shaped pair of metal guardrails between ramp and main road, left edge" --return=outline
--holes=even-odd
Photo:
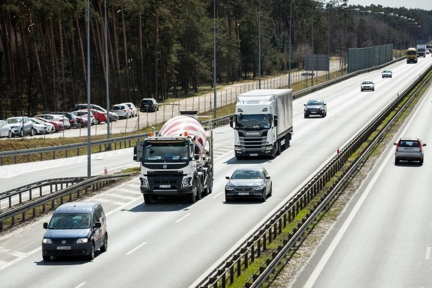
[[[63,204],[63,197],[69,196],[68,201],[72,201],[72,195],[74,193],[77,193],[76,198],[80,198],[82,194],[87,195],[89,193],[89,189],[91,188],[92,191],[100,189],[106,185],[112,184],[113,182],[119,181],[120,179],[123,179],[124,177],[130,176],[133,173],[123,173],[123,174],[111,174],[111,175],[101,175],[101,176],[95,176],[91,177],[90,179],[87,177],[77,177],[76,180],[82,179],[83,181],[73,184],[71,186],[68,186],[64,189],[53,191],[53,186],[57,187],[57,185],[62,185],[64,183],[67,183],[67,180],[64,178],[60,179],[50,179],[47,181],[43,181],[38,185],[29,186],[27,188],[23,188],[20,190],[17,190],[15,192],[9,193],[9,195],[6,195],[6,193],[3,193],[2,199],[5,199],[7,197],[13,197],[13,196],[19,196],[21,197],[22,193],[28,192],[31,195],[31,190],[35,189],[35,187],[43,187],[43,186],[50,186],[50,194],[45,196],[40,196],[34,200],[31,200],[27,203],[24,203],[18,207],[12,208],[10,210],[7,210],[5,212],[0,213],[0,231],[3,231],[3,225],[4,222],[8,219],[11,219],[11,225],[15,225],[15,217],[17,215],[21,215],[21,221],[26,220],[26,212],[29,210],[32,210],[31,218],[34,218],[37,214],[36,209],[38,207],[42,206],[42,211],[46,211],[46,205],[51,202],[51,208],[55,207],[55,200],[60,199],[59,205]],[[71,180],[70,180],[71,181]],[[84,190],[84,193],[81,193],[81,191]],[[12,191],[12,190],[11,190]],[[31,198],[31,196],[30,196]],[[11,201],[11,200],[10,200]]]

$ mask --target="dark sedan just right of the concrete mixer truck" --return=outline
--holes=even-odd
[[[240,198],[258,198],[266,201],[272,194],[270,175],[262,167],[240,167],[235,169],[225,186],[225,201]]]

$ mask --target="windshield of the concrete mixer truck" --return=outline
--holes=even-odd
[[[142,149],[142,159],[146,162],[185,162],[189,159],[189,145],[180,143],[147,143]]]

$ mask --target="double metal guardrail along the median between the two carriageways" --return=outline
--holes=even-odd
[[[296,195],[285,203],[275,214],[273,214],[259,229],[250,235],[233,253],[202,279],[197,287],[226,287],[234,282],[234,278],[241,275],[241,270],[246,269],[255,258],[260,257],[262,251],[267,249],[274,238],[281,233],[287,223],[291,223],[298,212],[306,207],[316,194],[324,188],[326,183],[344,167],[348,162],[349,157],[358,151],[359,148],[368,140],[369,136],[375,132],[381,125],[382,121],[396,109],[403,101],[404,97],[409,94],[412,89],[424,78],[424,76],[432,70],[432,67],[423,73],[416,81],[414,81],[407,89],[405,89],[398,98],[395,98],[381,113],[375,117],[360,133],[358,133],[341,151],[329,161],[310,181],[302,187]],[[430,81],[428,78],[427,81]],[[412,99],[413,97],[411,97]],[[408,102],[404,105],[408,105]],[[403,108],[404,109],[404,108]],[[400,111],[402,111],[401,109]],[[398,114],[392,119],[396,119]],[[392,120],[394,121],[394,120]],[[391,122],[391,121],[390,121]],[[384,128],[387,129],[388,125]],[[272,251],[271,257],[267,259],[259,268],[256,274],[250,278],[245,287],[259,287],[274,271],[286,253],[294,246],[295,242],[303,235],[309,225],[315,220],[316,216],[322,211],[333,196],[339,191],[350,173],[355,171],[355,168],[361,163],[367,152],[380,139],[383,131],[376,135],[374,139],[365,147],[361,155],[358,155],[354,161],[347,167],[347,172],[343,173],[328,190],[327,194],[322,196],[320,201],[315,204],[306,217],[303,218],[293,229],[293,232],[283,240],[279,247]]]

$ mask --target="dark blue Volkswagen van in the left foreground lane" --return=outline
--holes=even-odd
[[[94,259],[95,250],[108,248],[108,232],[102,205],[94,202],[71,202],[60,205],[44,223],[42,257],[86,256]]]

